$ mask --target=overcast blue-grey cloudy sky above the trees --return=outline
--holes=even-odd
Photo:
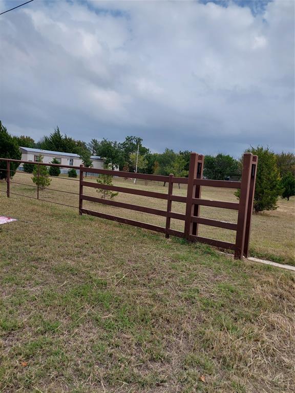
[[[294,2],[35,0],[0,16],[0,120],[35,140],[290,151]]]

